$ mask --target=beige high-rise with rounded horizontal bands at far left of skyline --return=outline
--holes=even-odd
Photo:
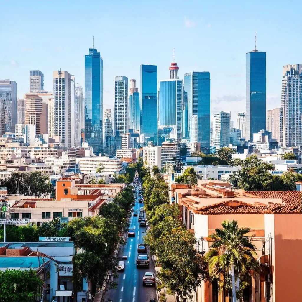
[[[37,94],[27,93],[25,99],[25,125],[36,125],[36,134],[41,134],[42,98]]]

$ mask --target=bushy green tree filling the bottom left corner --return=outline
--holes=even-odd
[[[44,283],[32,269],[0,271],[0,280],[0,301],[35,302]]]

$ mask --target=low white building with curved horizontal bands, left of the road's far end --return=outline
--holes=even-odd
[[[119,173],[122,171],[122,162],[120,159],[109,158],[105,156],[81,157],[78,159],[80,172],[83,174],[96,173],[100,164],[104,165],[102,172]]]

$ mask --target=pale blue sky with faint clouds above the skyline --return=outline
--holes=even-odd
[[[266,51],[267,109],[280,106],[282,67],[302,63],[302,27],[297,1],[44,0],[2,1],[0,79],[17,82],[21,98],[29,70],[44,73],[52,90],[53,70],[67,70],[84,87],[84,55],[92,47],[104,60],[104,109],[112,108],[114,76],[137,79],[140,64],[158,66],[169,78],[209,71],[211,114],[245,110],[245,53]],[[233,119],[233,118],[232,118]]]

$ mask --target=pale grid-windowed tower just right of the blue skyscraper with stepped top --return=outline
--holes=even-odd
[[[128,132],[128,78],[116,76],[114,79],[114,135]]]

